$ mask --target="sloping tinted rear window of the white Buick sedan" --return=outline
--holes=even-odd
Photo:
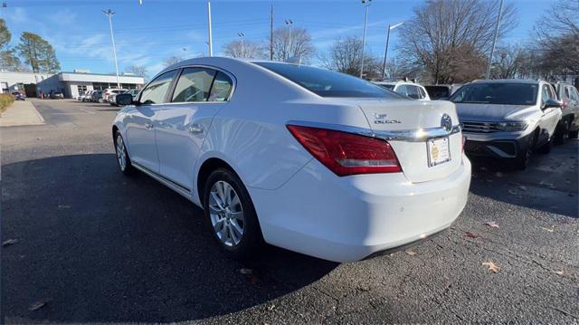
[[[298,64],[276,62],[255,62],[255,64],[280,74],[280,76],[322,97],[405,99],[403,96],[378,87],[372,82],[344,73]]]

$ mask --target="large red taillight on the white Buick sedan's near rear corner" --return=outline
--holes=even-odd
[[[384,140],[333,129],[288,125],[289,132],[319,162],[337,176],[402,171],[390,144]]]

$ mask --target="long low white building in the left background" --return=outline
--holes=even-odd
[[[145,80],[124,73],[119,75],[119,83],[122,89],[138,89],[143,86]],[[76,98],[85,91],[101,91],[107,88],[118,88],[116,75],[81,70],[56,74],[0,72],[0,92],[22,91],[27,97],[38,97],[41,91],[43,93],[62,91],[65,98]]]

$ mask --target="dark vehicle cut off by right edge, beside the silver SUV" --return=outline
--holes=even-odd
[[[579,135],[579,91],[565,82],[552,85],[557,93],[557,99],[562,102],[563,116],[555,129],[555,143],[562,144],[565,138],[576,139]]]

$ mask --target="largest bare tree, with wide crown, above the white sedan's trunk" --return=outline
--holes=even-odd
[[[505,6],[499,39],[516,25],[515,14],[512,4]],[[498,0],[429,0],[416,6],[411,21],[401,27],[402,53],[433,82],[479,78],[488,62],[485,53],[490,52],[497,17]]]

